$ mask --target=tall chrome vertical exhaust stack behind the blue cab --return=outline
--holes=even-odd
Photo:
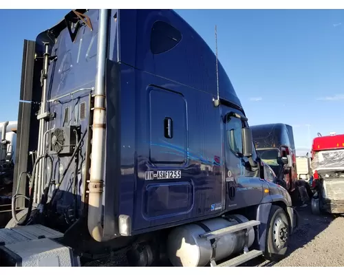
[[[104,229],[102,226],[106,149],[105,62],[108,56],[108,19],[109,10],[99,10],[97,74],[92,125],[92,155],[88,186],[89,199],[87,227],[89,234],[91,234],[94,240],[99,242],[111,239],[109,236],[104,236]]]

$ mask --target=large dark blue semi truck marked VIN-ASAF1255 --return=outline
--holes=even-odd
[[[221,63],[173,10],[72,10],[25,41],[22,79],[2,265],[286,255],[290,196]]]

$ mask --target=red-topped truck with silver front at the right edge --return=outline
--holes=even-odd
[[[322,136],[312,144],[312,212],[344,213],[344,135]]]

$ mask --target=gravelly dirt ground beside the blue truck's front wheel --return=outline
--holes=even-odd
[[[288,257],[279,263],[256,259],[246,266],[344,266],[344,218],[314,216],[310,208],[298,212],[300,225],[290,238]]]

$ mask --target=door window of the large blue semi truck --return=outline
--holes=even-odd
[[[227,118],[227,138],[231,151],[236,155],[242,155],[242,122],[239,118],[228,116]]]

